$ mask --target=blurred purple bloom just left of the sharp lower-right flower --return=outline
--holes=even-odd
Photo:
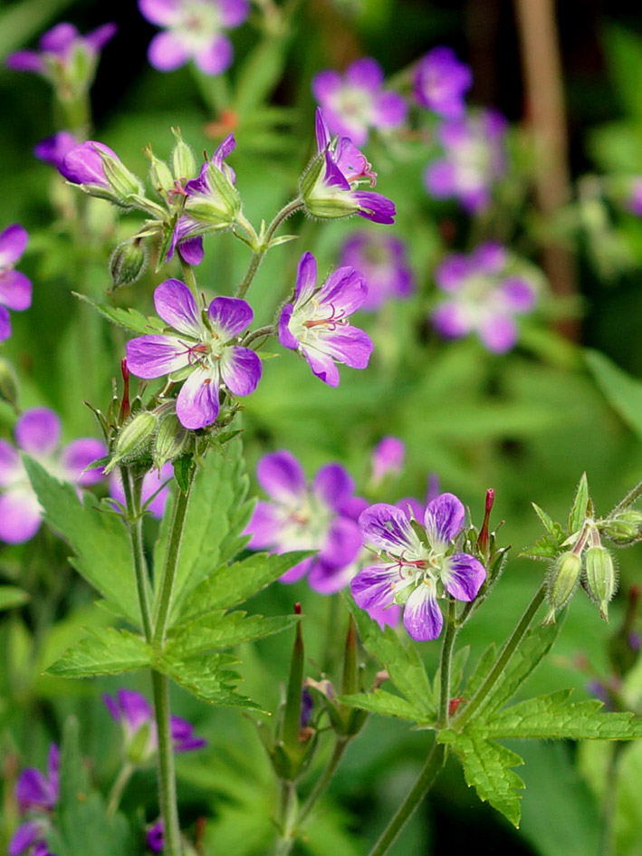
[[[285,572],[281,582],[296,582],[307,573],[315,591],[338,591],[347,582],[340,580],[341,570],[361,548],[353,519],[354,482],[346,470],[340,464],[321,466],[308,485],[299,461],[283,450],[262,457],[256,476],[271,501],[254,509],[245,531],[252,535],[249,546],[270,553],[318,550]]]

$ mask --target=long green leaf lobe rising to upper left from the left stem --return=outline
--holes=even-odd
[[[63,484],[29,457],[24,466],[44,519],[71,545],[73,567],[133,624],[140,624],[129,536],[119,515],[108,514],[91,494],[84,505],[72,485]]]

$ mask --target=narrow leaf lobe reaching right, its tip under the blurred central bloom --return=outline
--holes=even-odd
[[[223,565],[196,586],[180,611],[180,620],[194,619],[206,612],[226,610],[243,603],[313,554],[311,550],[283,555],[254,553],[243,562]]]

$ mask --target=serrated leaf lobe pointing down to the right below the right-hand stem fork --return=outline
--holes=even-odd
[[[474,787],[480,800],[490,803],[513,826],[519,826],[521,809],[517,790],[524,784],[511,768],[522,765],[522,758],[474,733],[457,734],[448,729],[440,731],[437,740],[455,750],[464,766],[466,784]]]

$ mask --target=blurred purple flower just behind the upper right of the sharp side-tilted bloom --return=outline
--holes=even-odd
[[[363,274],[368,286],[368,295],[360,306],[364,312],[376,312],[388,300],[403,299],[415,289],[406,245],[391,235],[351,235],[341,247],[340,264],[356,267]]]

